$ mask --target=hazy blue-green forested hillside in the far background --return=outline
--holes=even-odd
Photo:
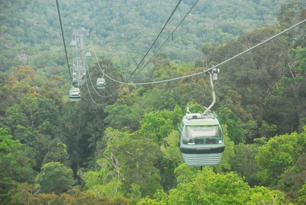
[[[181,2],[153,52],[194,2]],[[205,42],[222,44],[263,24],[277,25],[276,13],[288,2],[290,0],[200,0],[174,33],[174,40],[162,51],[177,62],[195,61],[202,57],[201,47]],[[96,50],[102,50],[99,57],[112,59],[116,66],[128,71],[147,51],[176,3],[174,0],[60,0],[69,54],[72,30],[90,28]],[[27,60],[35,70],[51,72],[47,70],[54,66],[56,69],[52,70],[57,70],[52,71],[54,74],[67,74],[61,67],[65,64],[65,56],[55,1],[2,0],[0,13],[0,46],[4,48],[0,51],[2,71],[27,63],[24,62]],[[85,39],[85,43],[89,45],[90,42]],[[24,54],[26,59],[22,57]]]

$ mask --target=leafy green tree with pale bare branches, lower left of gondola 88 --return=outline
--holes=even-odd
[[[112,128],[106,131],[109,140],[104,157],[113,166],[116,180],[125,181],[127,190],[137,183],[142,196],[153,196],[161,188],[159,170],[153,166],[161,157],[159,146],[148,138],[137,139]]]

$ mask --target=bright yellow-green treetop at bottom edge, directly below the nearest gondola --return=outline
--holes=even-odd
[[[190,173],[191,174],[191,173]],[[250,188],[243,178],[235,173],[215,174],[211,167],[205,167],[190,180],[181,182],[167,195],[155,193],[153,199],[141,199],[137,205],[148,204],[291,204],[279,190],[265,187]],[[293,204],[291,204],[293,205]]]

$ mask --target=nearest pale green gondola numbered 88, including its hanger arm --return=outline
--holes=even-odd
[[[213,102],[201,113],[188,112],[181,121],[179,129],[178,146],[188,166],[211,166],[218,165],[225,149],[222,123],[218,116],[210,109],[215,104],[216,96],[212,74],[217,80],[217,71],[209,72]]]

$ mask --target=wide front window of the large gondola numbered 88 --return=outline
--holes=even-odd
[[[183,144],[220,144],[223,135],[219,125],[184,126],[182,131]]]

